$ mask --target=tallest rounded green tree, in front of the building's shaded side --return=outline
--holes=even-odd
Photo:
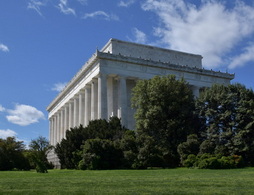
[[[163,159],[161,164],[158,161],[153,165],[178,165],[177,146],[186,140],[187,135],[198,130],[194,105],[192,91],[183,79],[176,80],[175,76],[169,75],[137,82],[133,89],[132,106],[137,109],[138,136],[152,140],[143,143],[153,143],[153,147],[157,148],[154,152],[159,150]],[[144,157],[142,159],[145,160]]]

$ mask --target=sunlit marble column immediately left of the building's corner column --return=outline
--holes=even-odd
[[[92,79],[91,83],[91,120],[98,119],[98,80]]]

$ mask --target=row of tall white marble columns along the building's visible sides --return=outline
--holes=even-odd
[[[100,74],[50,117],[50,144],[56,145],[65,138],[67,129],[87,126],[90,120],[118,116],[126,126],[127,110],[126,78]]]

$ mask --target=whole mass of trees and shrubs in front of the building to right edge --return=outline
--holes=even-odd
[[[139,81],[132,98],[137,131],[116,117],[73,128],[55,149],[62,168],[253,165],[253,91],[215,85],[194,102],[188,84],[174,76]]]

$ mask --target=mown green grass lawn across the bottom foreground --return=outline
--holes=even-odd
[[[254,168],[2,171],[0,194],[254,194]]]

